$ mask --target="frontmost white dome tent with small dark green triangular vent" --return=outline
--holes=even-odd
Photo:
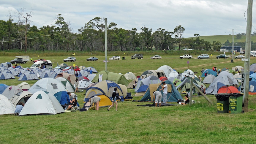
[[[19,116],[23,115],[49,115],[64,113],[59,101],[47,91],[35,92],[24,105]]]

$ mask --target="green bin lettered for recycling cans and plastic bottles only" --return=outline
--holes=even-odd
[[[229,97],[229,113],[242,113],[243,108],[243,95],[240,93],[232,93]]]

